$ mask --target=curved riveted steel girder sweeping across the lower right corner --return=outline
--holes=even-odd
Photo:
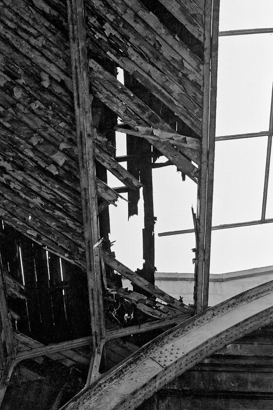
[[[273,321],[273,281],[166,331],[80,392],[62,410],[136,409],[216,350]]]

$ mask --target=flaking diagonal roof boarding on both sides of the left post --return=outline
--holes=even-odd
[[[178,22],[173,24],[177,33],[170,31],[164,21],[138,1],[87,1],[86,6],[90,86],[94,97],[125,122],[175,131],[152,107],[120,84],[113,70],[109,72],[109,64],[115,62],[199,138],[202,19],[198,19],[198,35],[193,30],[195,20],[190,19],[184,22],[187,36],[182,36],[185,33],[177,31]],[[195,7],[196,16],[202,15],[200,5],[194,2],[184,7]],[[166,15],[170,13],[165,11]],[[0,216],[34,241],[84,266],[66,14],[63,1],[1,3]],[[160,138],[155,141],[147,136],[147,140],[196,180],[191,148],[178,149]],[[97,128],[96,160],[128,188],[138,189],[139,181],[112,154],[111,143]],[[97,191],[104,206],[116,205],[119,195],[99,178]]]

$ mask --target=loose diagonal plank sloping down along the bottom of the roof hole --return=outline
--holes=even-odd
[[[184,313],[192,312],[192,308],[186,305],[183,302],[178,301],[173,296],[168,295],[168,293],[164,292],[164,290],[159,289],[158,287],[152,285],[150,282],[143,279],[140,275],[133,270],[129,269],[127,266],[123,265],[121,262],[117,261],[117,259],[113,258],[109,253],[104,252],[104,262],[108,266],[111,266],[115,269],[118,273],[120,273],[124,278],[129,279],[132,283],[141,287],[146,292],[150,293],[151,295],[156,296],[156,298],[166,302],[168,305],[180,310]]]

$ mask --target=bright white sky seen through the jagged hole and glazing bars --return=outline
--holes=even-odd
[[[271,27],[272,16],[272,0],[220,1],[221,31]],[[219,38],[217,136],[268,130],[272,66],[273,34]],[[126,154],[125,136],[117,135],[117,141],[117,155]],[[213,225],[260,219],[266,148],[267,137],[216,142]],[[196,185],[188,178],[182,182],[175,166],[154,169],[153,182],[157,271],[193,272],[194,234],[157,234],[193,228]],[[112,177],[109,184],[120,186]],[[266,218],[273,218],[272,169]],[[142,202],[138,217],[127,223],[127,204],[119,200],[117,208],[110,207],[110,221],[117,259],[133,270],[141,268]],[[273,224],[213,231],[211,273],[273,265],[272,242]]]

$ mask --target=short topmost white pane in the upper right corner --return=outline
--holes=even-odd
[[[272,0],[221,0],[220,31],[272,27]]]

